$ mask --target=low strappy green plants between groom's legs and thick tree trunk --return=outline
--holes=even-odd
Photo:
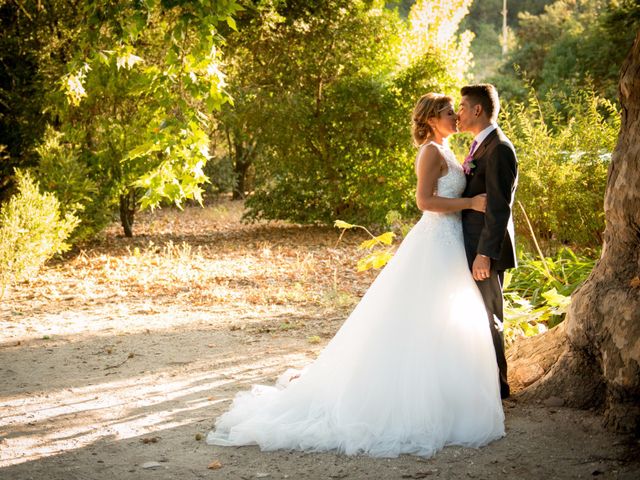
[[[520,255],[518,268],[505,274],[505,325],[507,345],[522,336],[546,331],[564,320],[571,294],[593,270],[592,253],[578,256],[570,248],[555,257]]]

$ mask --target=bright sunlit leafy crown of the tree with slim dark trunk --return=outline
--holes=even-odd
[[[57,106],[68,141],[108,181],[99,198],[133,192],[141,208],[202,201],[211,113],[228,100],[217,26],[235,0],[92,2]],[[78,65],[80,65],[78,67]],[[46,154],[46,153],[45,153]],[[110,201],[111,202],[111,201]],[[106,207],[106,205],[105,205]]]

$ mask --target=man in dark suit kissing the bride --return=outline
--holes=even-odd
[[[504,271],[516,266],[511,207],[518,184],[518,161],[509,139],[496,125],[500,102],[490,84],[469,85],[460,91],[458,128],[475,138],[463,168],[467,186],[463,197],[487,194],[485,213],[462,211],[464,246],[469,268],[487,309],[500,371],[500,395],[509,397],[507,360],[502,335]]]

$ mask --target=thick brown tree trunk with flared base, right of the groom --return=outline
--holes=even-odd
[[[572,299],[565,325],[531,342],[566,337],[557,361],[540,365],[521,394],[601,408],[605,425],[640,434],[640,32],[620,78],[622,123],[604,200],[602,256]],[[554,340],[555,338],[555,340]],[[535,346],[535,345],[534,345]],[[526,350],[526,349],[525,349]],[[531,351],[536,348],[531,347]],[[517,365],[524,358],[514,352]],[[522,366],[513,369],[512,378]],[[535,380],[535,378],[534,378]]]

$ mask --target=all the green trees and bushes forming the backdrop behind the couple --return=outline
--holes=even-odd
[[[57,229],[41,264],[114,218],[133,235],[140,209],[203,194],[246,197],[249,221],[407,225],[413,104],[490,81],[520,162],[511,315],[552,325],[598,256],[640,7],[509,0],[505,43],[502,4],[0,0],[0,228]],[[468,141],[452,140],[460,157]],[[9,212],[37,194],[53,217],[16,227]],[[37,268],[24,271],[3,282]]]

